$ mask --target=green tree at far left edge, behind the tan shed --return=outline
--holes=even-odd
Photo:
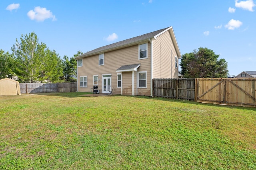
[[[12,79],[12,77],[15,75],[14,66],[14,55],[10,54],[8,51],[5,53],[4,50],[0,49],[0,79]]]

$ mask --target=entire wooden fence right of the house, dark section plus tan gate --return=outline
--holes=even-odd
[[[153,79],[153,96],[256,107],[256,78]]]

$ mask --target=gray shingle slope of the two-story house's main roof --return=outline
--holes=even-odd
[[[129,44],[132,44],[132,43],[147,40],[149,38],[153,38],[154,36],[158,35],[159,33],[161,33],[162,31],[164,31],[168,28],[170,28],[170,27],[167,27],[167,28],[164,28],[164,29],[159,29],[159,30],[153,31],[151,33],[146,33],[146,34],[143,34],[143,35],[140,35],[140,36],[137,36],[137,37],[133,37],[133,38],[126,39],[126,40],[123,40],[123,41],[119,41],[119,42],[116,42],[116,43],[113,43],[113,44],[110,44],[110,45],[106,45],[106,46],[103,46],[103,47],[99,47],[97,49],[94,49],[92,51],[88,51],[87,53],[84,53],[84,54],[76,57],[76,59],[88,56],[90,54],[100,53],[100,52],[105,51],[107,49],[114,49],[114,48],[117,48],[117,47],[122,47],[124,45],[129,45]]]

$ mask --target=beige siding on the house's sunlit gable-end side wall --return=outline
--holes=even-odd
[[[178,67],[175,67],[177,56],[169,31],[153,40],[152,78],[178,78]]]

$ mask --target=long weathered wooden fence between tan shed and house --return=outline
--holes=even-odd
[[[73,83],[20,83],[20,93],[76,92]]]

